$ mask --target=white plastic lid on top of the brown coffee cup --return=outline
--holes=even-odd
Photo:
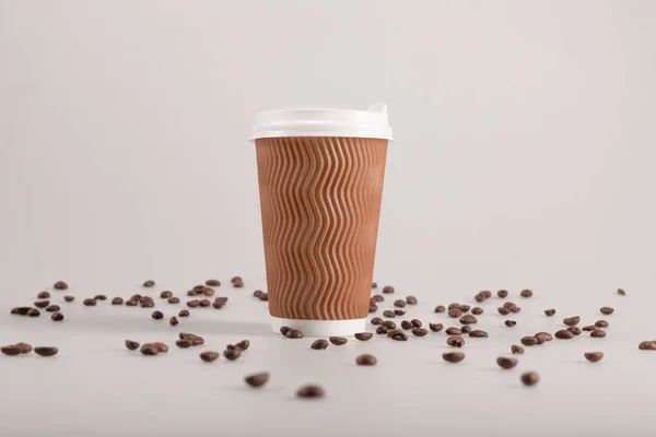
[[[394,141],[384,103],[374,104],[367,110],[292,108],[257,113],[249,140],[281,137],[352,137]]]

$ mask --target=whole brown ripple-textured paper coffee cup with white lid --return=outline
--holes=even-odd
[[[250,140],[273,331],[364,331],[393,140],[387,107],[261,111]]]

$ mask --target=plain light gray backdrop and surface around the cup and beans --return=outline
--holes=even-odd
[[[656,338],[655,20],[648,0],[0,0],[0,341],[61,350],[0,357],[0,434],[654,435],[656,354],[636,345]],[[485,304],[491,338],[462,366],[441,363],[437,335],[318,357],[268,336],[248,296],[265,286],[254,114],[374,102],[397,139],[376,280],[417,295],[424,322],[479,290],[536,291],[514,331]],[[8,314],[59,279],[81,299],[233,274],[247,286],[220,293],[223,312],[180,326],[209,349],[250,338],[230,365],[124,352],[174,340],[149,310]],[[519,336],[601,305],[618,307],[607,339],[494,369]],[[582,363],[590,349],[606,362]],[[353,366],[361,352],[379,366]],[[529,368],[542,383],[517,389]],[[254,393],[241,378],[257,369],[273,376]],[[297,402],[311,381],[329,395]]]

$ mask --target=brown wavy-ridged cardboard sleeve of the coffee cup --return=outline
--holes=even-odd
[[[387,140],[256,140],[269,311],[309,320],[368,312]]]

